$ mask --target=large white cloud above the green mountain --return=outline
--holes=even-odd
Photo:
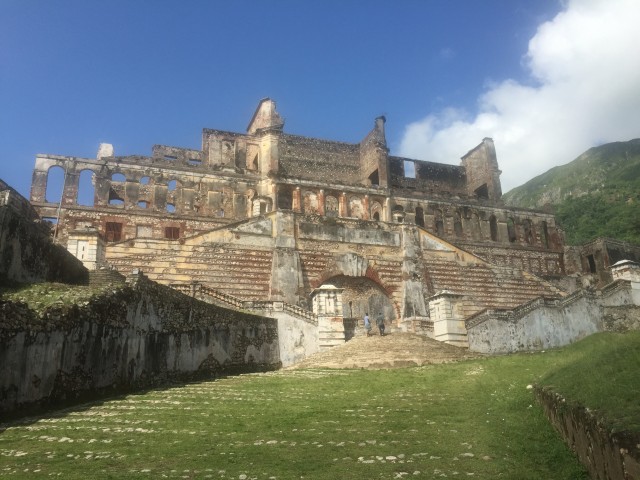
[[[503,191],[603,143],[640,137],[640,2],[572,0],[529,42],[532,83],[489,87],[474,115],[448,108],[408,125],[403,156],[458,163],[492,137]]]

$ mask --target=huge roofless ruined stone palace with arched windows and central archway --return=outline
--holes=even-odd
[[[563,295],[543,280],[565,273],[553,215],[501,195],[489,138],[459,165],[402,158],[384,117],[356,143],[308,138],[264,99],[246,133],[206,128],[199,150],[38,155],[31,204],[90,269],[313,313],[320,347],[366,312],[467,345],[465,319]]]

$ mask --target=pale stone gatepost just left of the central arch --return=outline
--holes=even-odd
[[[311,293],[313,313],[318,316],[320,351],[342,345],[345,340],[342,314],[342,288],[322,285]]]

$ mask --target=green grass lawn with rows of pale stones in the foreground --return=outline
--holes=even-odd
[[[553,380],[561,391],[554,375],[573,369],[576,384],[606,386],[593,365],[577,366],[621,344],[638,350],[640,335],[419,368],[243,375],[85,404],[0,426],[0,477],[588,478],[527,385]],[[638,398],[637,381],[629,387]]]

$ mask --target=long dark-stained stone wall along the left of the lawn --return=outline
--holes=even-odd
[[[0,414],[280,365],[275,320],[198,301],[141,275],[41,315],[0,300]]]

